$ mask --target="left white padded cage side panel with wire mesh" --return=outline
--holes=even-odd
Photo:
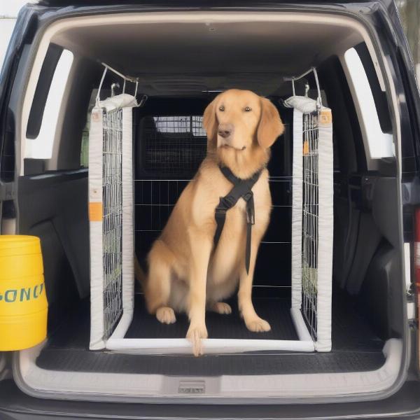
[[[121,94],[92,109],[89,134],[90,349],[124,337],[134,305],[132,106]]]

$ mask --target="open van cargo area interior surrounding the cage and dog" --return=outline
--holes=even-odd
[[[41,238],[48,339],[15,356],[15,380],[36,396],[183,401],[260,398],[358,400],[387,391],[400,374],[405,281],[397,137],[381,56],[360,22],[322,13],[127,13],[58,20],[39,38],[22,108],[16,231]],[[43,109],[64,52],[70,56],[50,156],[37,155]],[[57,64],[58,63],[58,64]],[[262,239],[253,302],[272,330],[246,329],[208,313],[210,338],[297,339],[290,317],[293,111],[285,78],[315,66],[332,110],[334,238],[332,350],[192,354],[89,349],[90,244],[87,133],[101,99],[137,93],[133,111],[134,237],[141,265],[207,148],[202,114],[215,94],[253,90],[279,109],[285,133],[268,168],[273,209]],[[51,81],[52,80],[52,81]],[[295,83],[316,97],[310,73]],[[306,85],[309,85],[309,90]],[[41,111],[40,111],[41,109]],[[33,144],[31,144],[33,142]],[[80,153],[81,151],[81,153]],[[322,204],[321,204],[322,205]],[[331,221],[332,223],[332,221]],[[185,314],[163,325],[136,285],[127,338],[184,338]],[[197,395],[187,395],[187,394]]]

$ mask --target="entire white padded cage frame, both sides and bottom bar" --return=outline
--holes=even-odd
[[[204,339],[205,353],[244,351],[330,351],[332,283],[332,118],[330,109],[313,99],[293,96],[293,207],[291,316],[298,340]],[[123,94],[98,102],[92,110],[89,141],[89,201],[91,258],[90,349],[135,353],[190,353],[187,339],[126,339],[134,311],[134,201],[132,166],[132,106]],[[119,174],[112,174],[121,195],[107,197],[109,144],[120,153]],[[308,175],[309,174],[309,178]],[[120,178],[118,177],[120,176]],[[315,178],[314,178],[315,176]],[[313,182],[316,179],[316,182]],[[315,188],[311,188],[311,184]],[[120,260],[111,275],[105,211],[121,214]],[[310,200],[309,200],[310,199]],[[306,200],[306,201],[305,201]],[[318,203],[322,205],[318,206]],[[308,216],[309,215],[309,216]],[[115,217],[114,217],[115,218]],[[317,223],[316,223],[317,221]],[[303,230],[303,231],[302,231]],[[302,232],[306,234],[302,235]],[[306,235],[306,236],[305,236]],[[311,237],[316,246],[311,245]],[[309,239],[308,239],[309,238]],[[306,245],[305,245],[306,244]],[[303,246],[302,246],[303,245]],[[111,248],[113,249],[113,248]],[[310,252],[309,252],[310,251]],[[120,261],[120,263],[119,263]],[[121,272],[118,272],[118,269]],[[120,276],[119,276],[120,274]],[[109,292],[111,290],[111,293]],[[110,298],[111,297],[111,298]],[[113,299],[115,301],[113,301]],[[107,303],[111,302],[111,308]],[[112,309],[110,311],[110,309]],[[111,316],[111,319],[110,319]]]

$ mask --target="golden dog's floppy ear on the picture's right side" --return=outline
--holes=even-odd
[[[257,140],[263,148],[272,146],[277,137],[284,131],[284,125],[281,122],[279,111],[267,98],[260,98],[261,116],[258,124]]]

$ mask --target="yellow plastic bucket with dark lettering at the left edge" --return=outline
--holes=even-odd
[[[41,241],[0,235],[0,351],[35,346],[47,335]]]

